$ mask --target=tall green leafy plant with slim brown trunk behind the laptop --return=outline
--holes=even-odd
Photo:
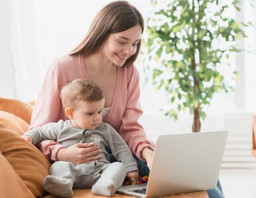
[[[221,67],[228,67],[236,40],[246,37],[250,23],[234,20],[227,11],[239,11],[239,1],[152,1],[156,11],[147,21],[144,62],[153,84],[164,89],[172,104],[165,116],[178,119],[178,112],[194,115],[192,131],[200,131],[205,107],[218,91],[234,90]],[[159,7],[159,8],[158,8]],[[237,71],[232,71],[233,79]]]

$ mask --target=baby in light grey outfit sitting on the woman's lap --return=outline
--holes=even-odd
[[[43,140],[57,141],[64,147],[94,143],[100,149],[101,158],[90,164],[54,162],[50,175],[43,180],[44,189],[59,197],[72,197],[73,187],[92,187],[95,195],[112,197],[126,176],[137,180],[137,162],[131,150],[111,125],[102,122],[105,104],[102,90],[92,82],[75,79],[62,87],[60,98],[68,119],[34,127],[23,138],[33,145]],[[118,162],[109,162],[107,149],[111,149]]]

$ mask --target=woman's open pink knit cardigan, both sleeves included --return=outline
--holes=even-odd
[[[60,87],[74,79],[88,79],[83,55],[66,55],[52,62],[40,89],[31,118],[30,129],[48,122],[66,120],[60,102]],[[113,102],[104,122],[109,123],[125,140],[133,154],[143,160],[141,152],[153,142],[147,139],[143,127],[138,123],[142,115],[139,104],[139,73],[133,67],[117,67],[117,84]],[[56,160],[62,145],[53,141],[41,144],[42,152],[52,160]]]

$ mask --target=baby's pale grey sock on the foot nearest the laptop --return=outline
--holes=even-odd
[[[96,184],[92,186],[92,193],[94,193],[94,195],[112,197],[115,191],[115,183],[112,180],[96,182]]]

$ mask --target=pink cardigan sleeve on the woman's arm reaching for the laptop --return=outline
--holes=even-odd
[[[127,104],[125,114],[123,114],[119,134],[129,148],[140,160],[144,160],[141,152],[145,148],[154,150],[154,144],[147,138],[145,131],[138,119],[142,116],[143,111],[139,104],[140,88],[139,73],[137,69],[133,69],[131,79],[127,85]]]

